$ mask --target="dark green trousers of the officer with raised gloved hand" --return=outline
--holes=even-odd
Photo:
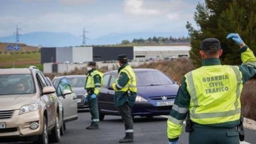
[[[190,144],[239,144],[238,130],[227,127],[207,127],[194,124],[189,134]]]

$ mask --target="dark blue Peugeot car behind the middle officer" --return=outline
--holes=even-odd
[[[133,106],[133,116],[168,115],[171,111],[179,86],[171,78],[156,69],[134,69],[137,80],[137,97]],[[115,82],[117,71],[104,73],[104,85],[100,91],[100,120],[105,115],[117,115],[114,107],[114,90],[107,87]]]

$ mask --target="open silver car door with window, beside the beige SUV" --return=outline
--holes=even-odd
[[[57,95],[59,100],[62,102],[63,105],[63,119],[64,121],[69,121],[76,119],[77,116],[77,97],[76,94],[72,91],[72,88],[69,84],[69,80],[64,77],[59,80],[59,83],[56,87]],[[64,90],[70,90],[71,94],[63,95]]]

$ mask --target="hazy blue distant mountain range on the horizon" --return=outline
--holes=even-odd
[[[87,45],[113,45],[121,43],[122,40],[133,40],[134,38],[149,38],[149,37],[178,37],[183,36],[179,33],[163,33],[163,32],[145,32],[145,33],[111,33],[95,39],[88,39]],[[82,44],[82,39],[70,33],[53,33],[53,32],[33,32],[20,36],[20,42],[27,45],[43,47],[66,47],[79,46]],[[15,42],[15,35],[0,37],[0,42]]]

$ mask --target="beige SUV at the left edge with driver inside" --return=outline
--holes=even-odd
[[[62,106],[38,68],[0,69],[0,142],[59,142]]]

